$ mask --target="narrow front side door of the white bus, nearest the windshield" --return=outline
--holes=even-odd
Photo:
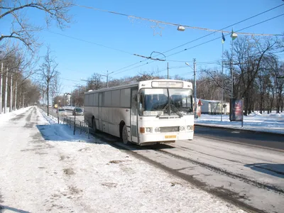
[[[137,88],[131,89],[131,110],[130,110],[130,126],[131,141],[138,143],[138,126],[137,126]]]

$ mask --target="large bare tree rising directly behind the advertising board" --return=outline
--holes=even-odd
[[[271,55],[273,50],[279,48],[279,40],[266,38],[258,40],[256,38],[243,37],[234,42],[233,75],[234,85],[233,97],[244,97],[244,115],[250,114],[253,110],[254,85],[258,72],[262,69],[264,58]],[[231,53],[226,51],[227,65],[231,65]],[[229,67],[228,67],[229,68]]]

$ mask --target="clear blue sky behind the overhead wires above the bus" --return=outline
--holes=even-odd
[[[271,9],[274,6],[284,4],[284,1],[84,0],[75,1],[75,3],[132,16],[218,30],[238,21],[242,21],[245,18],[254,16],[257,13]],[[268,13],[264,13],[256,18],[252,18],[244,23],[235,25],[233,26],[234,31],[238,31],[241,28],[251,26],[268,18],[273,18],[282,13],[284,13],[284,6],[269,11]],[[53,50],[53,55],[56,57],[56,61],[59,64],[58,71],[61,72],[62,92],[70,92],[71,89],[75,89],[75,87],[73,87],[75,84],[84,84],[84,82],[80,82],[80,79],[87,79],[88,77],[91,77],[94,72],[105,75],[107,70],[109,70],[109,72],[113,72],[110,75],[112,78],[133,76],[141,71],[150,72],[156,70],[163,70],[160,71],[160,75],[166,75],[167,62],[169,62],[170,75],[182,75],[190,78],[192,70],[190,67],[186,67],[184,61],[193,65],[192,59],[196,58],[198,72],[202,67],[217,67],[218,65],[207,62],[217,61],[222,55],[221,38],[200,45],[197,48],[192,48],[207,40],[220,37],[222,35],[221,33],[213,33],[206,38],[189,43],[191,40],[195,40],[211,32],[188,28],[181,32],[177,31],[176,26],[159,24],[159,27],[162,29],[156,28],[155,32],[161,33],[160,36],[159,34],[154,35],[152,27],[155,26],[155,23],[149,21],[95,11],[93,9],[85,9],[79,6],[74,6],[71,9],[70,14],[74,16],[70,28],[60,31],[60,29],[53,25],[49,31],[42,31],[39,33],[40,41],[45,45],[50,45],[51,50]],[[28,16],[32,23],[34,21],[34,23],[43,24],[44,14],[42,12],[31,10],[31,13],[29,12]],[[242,32],[280,34],[284,33],[283,23],[284,16],[280,16],[266,23],[261,23],[258,26],[248,28]],[[231,31],[231,29],[232,27],[224,30]],[[73,38],[63,35],[72,36]],[[224,43],[225,50],[230,48],[229,40],[230,38],[228,35],[226,36],[226,42]],[[95,45],[94,43],[99,45]],[[133,55],[150,56],[153,51],[164,53],[167,50],[185,43],[188,44],[165,53],[166,59],[168,60],[165,62],[148,60],[148,65],[145,65],[146,62],[140,62],[141,60],[144,60],[143,58]],[[191,49],[168,56],[180,52],[185,48]],[[45,53],[46,47],[43,46],[40,50],[40,55],[45,55]],[[182,62],[173,62],[172,60],[179,60]],[[121,69],[137,62],[140,63],[133,66],[136,68],[128,67],[126,69]],[[77,82],[72,82],[70,80],[77,80]]]

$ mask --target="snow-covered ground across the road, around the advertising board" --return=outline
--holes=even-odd
[[[284,113],[260,114],[255,112],[244,116],[243,127],[241,127],[241,122],[231,122],[229,115],[223,115],[221,121],[221,115],[202,114],[198,119],[195,119],[195,124],[284,134]]]

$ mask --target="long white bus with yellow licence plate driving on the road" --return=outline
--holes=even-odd
[[[147,80],[84,93],[84,121],[138,145],[192,140],[192,83]]]

